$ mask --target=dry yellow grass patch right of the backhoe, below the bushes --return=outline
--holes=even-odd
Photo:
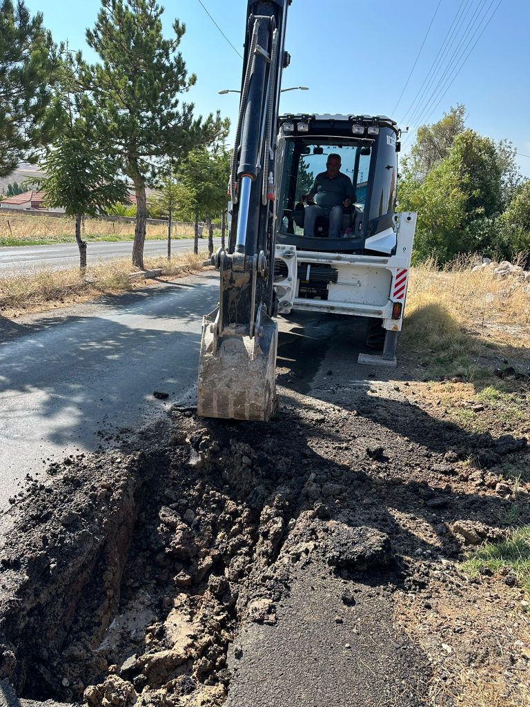
[[[472,272],[463,258],[442,270],[435,262],[411,269],[403,336],[438,373],[480,378],[493,350],[529,358],[529,323],[530,293],[517,279]]]

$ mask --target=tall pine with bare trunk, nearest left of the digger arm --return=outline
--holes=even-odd
[[[133,262],[143,267],[146,235],[146,185],[166,158],[182,160],[222,130],[219,115],[195,118],[181,95],[196,81],[178,51],[185,25],[175,20],[173,36],[163,37],[161,8],[155,0],[102,0],[90,47],[101,63],[88,67],[84,83],[89,107],[107,152],[119,154],[122,169],[136,190]]]

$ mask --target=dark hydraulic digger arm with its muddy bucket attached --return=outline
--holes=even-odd
[[[276,132],[292,0],[249,0],[235,147],[232,224],[219,305],[203,320],[197,409],[201,416],[268,420],[276,407],[278,327],[273,321]]]

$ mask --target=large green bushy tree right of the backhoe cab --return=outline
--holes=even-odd
[[[477,251],[510,257],[517,250],[513,239],[500,238],[500,217],[521,182],[514,148],[466,129],[464,113],[459,106],[420,129],[404,160],[399,206],[418,211],[416,262]]]

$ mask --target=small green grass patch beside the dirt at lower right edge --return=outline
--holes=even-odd
[[[462,564],[463,570],[471,576],[477,576],[483,567],[495,573],[502,568],[512,571],[517,584],[530,595],[530,525],[512,530],[504,542],[485,543]]]

